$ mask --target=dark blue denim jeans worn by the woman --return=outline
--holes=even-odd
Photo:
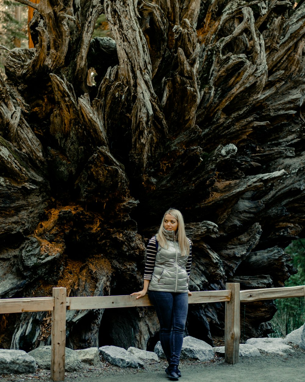
[[[188,314],[188,293],[150,290],[148,295],[160,322],[160,342],[165,357],[169,364],[178,366]]]

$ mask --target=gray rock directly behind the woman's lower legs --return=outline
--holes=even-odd
[[[157,342],[154,351],[159,356],[159,358],[165,358],[160,341]],[[183,339],[180,357],[181,359],[192,358],[199,359],[199,361],[204,362],[209,361],[214,357],[215,354],[213,352],[213,348],[208,343],[191,336],[187,336]]]

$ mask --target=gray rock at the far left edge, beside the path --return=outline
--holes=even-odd
[[[1,374],[34,373],[36,370],[35,359],[24,350],[0,349]]]

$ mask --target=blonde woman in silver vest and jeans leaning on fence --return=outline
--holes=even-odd
[[[160,342],[169,366],[171,380],[181,377],[178,369],[188,314],[189,273],[192,242],[185,235],[183,216],[176,209],[165,212],[156,236],[149,240],[144,286],[132,293],[141,298],[149,291],[160,322]]]

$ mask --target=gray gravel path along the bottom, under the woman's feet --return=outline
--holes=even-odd
[[[165,361],[161,360],[159,363],[147,364],[143,369],[121,369],[101,359],[99,366],[87,366],[82,372],[67,372],[65,381],[167,381],[169,379],[164,372],[166,366]],[[222,357],[215,357],[209,362],[182,360],[179,368],[181,382],[304,382],[305,351],[295,346],[292,354],[263,353],[261,357],[241,357],[235,365],[226,364]],[[0,375],[0,382],[34,380],[51,381],[50,371],[37,369],[35,374]]]

